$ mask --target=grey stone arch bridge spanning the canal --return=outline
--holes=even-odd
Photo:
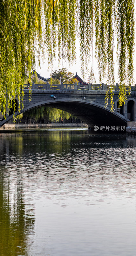
[[[29,101],[29,84],[24,85],[24,109],[21,113],[39,106],[59,108],[77,116],[90,128],[100,126],[127,126],[127,121],[136,120],[136,86],[132,87],[131,96],[119,108],[118,84],[116,84],[113,101],[114,113],[110,106],[105,109],[105,84],[88,84],[85,86],[75,84],[32,84],[32,99]],[[16,115],[18,115],[16,111]],[[0,127],[12,119],[13,114],[6,116],[0,122]]]

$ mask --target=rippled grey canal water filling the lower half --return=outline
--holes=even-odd
[[[135,256],[136,137],[0,133],[1,256]]]

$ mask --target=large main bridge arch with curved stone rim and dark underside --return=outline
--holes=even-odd
[[[38,106],[45,106],[45,107],[53,107],[65,110],[72,115],[77,116],[81,120],[83,120],[89,127],[93,128],[94,125],[97,126],[111,126],[111,125],[127,125],[128,119],[114,111],[111,113],[110,108],[105,109],[104,105],[94,102],[92,100],[84,100],[84,99],[77,99],[77,98],[56,98],[50,100],[43,100],[37,101],[36,103],[28,105],[25,107],[21,113],[38,107]],[[16,115],[18,115],[18,111]],[[9,116],[6,120],[3,120],[0,123],[0,126],[7,123],[13,115]]]

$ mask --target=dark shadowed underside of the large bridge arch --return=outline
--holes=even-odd
[[[46,105],[47,106],[47,105]],[[74,116],[77,116],[79,119],[84,121],[90,128],[93,128],[94,125],[97,126],[127,126],[127,122],[112,114],[110,111],[99,108],[90,104],[84,104],[79,102],[54,102],[48,105],[49,107],[59,108],[66,112],[71,113]]]

